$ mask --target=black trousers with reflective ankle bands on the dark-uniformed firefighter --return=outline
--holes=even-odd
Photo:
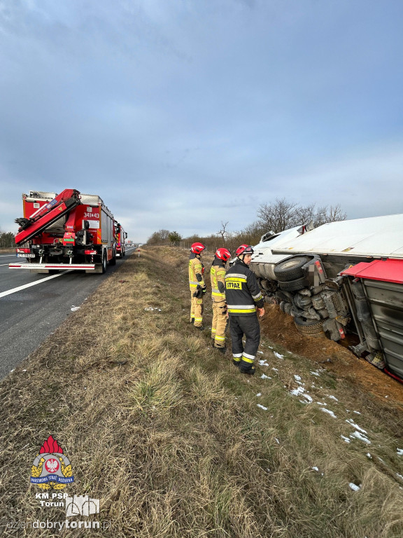
[[[229,315],[229,332],[232,340],[232,358],[241,371],[250,370],[260,344],[260,325],[256,315]],[[245,347],[242,337],[246,336]]]

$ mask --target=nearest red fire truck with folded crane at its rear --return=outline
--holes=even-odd
[[[22,204],[15,244],[17,258],[26,262],[10,263],[10,269],[105,273],[108,263],[115,265],[115,221],[98,195],[73,188],[60,194],[30,191],[22,195]]]

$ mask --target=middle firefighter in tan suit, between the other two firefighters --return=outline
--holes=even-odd
[[[225,302],[225,264],[231,258],[229,250],[221,248],[215,251],[211,265],[211,299],[213,301],[213,322],[211,338],[213,346],[222,354],[225,353],[225,329],[227,329],[227,303]]]

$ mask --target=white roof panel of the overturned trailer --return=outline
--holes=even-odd
[[[271,248],[276,254],[311,252],[403,258],[403,214],[330,222]]]

